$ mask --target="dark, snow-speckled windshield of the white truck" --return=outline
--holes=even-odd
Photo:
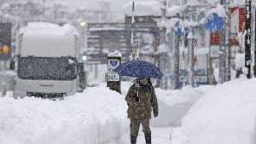
[[[77,77],[76,66],[67,57],[21,57],[18,77],[38,80],[73,80]]]

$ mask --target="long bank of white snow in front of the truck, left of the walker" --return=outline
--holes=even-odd
[[[124,96],[104,85],[63,101],[26,97],[0,101],[0,143],[101,144],[129,129]],[[125,124],[123,124],[125,123]]]

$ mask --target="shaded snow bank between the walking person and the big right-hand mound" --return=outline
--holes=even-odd
[[[156,89],[159,117],[152,119],[153,126],[178,126],[189,108],[213,86],[185,87],[177,90]]]

